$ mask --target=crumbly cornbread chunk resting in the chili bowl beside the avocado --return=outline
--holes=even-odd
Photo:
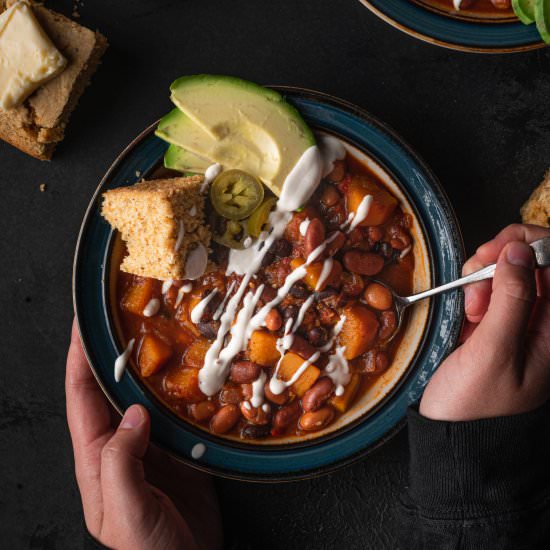
[[[128,249],[122,271],[162,281],[188,278],[187,255],[210,244],[202,182],[202,176],[141,181],[103,194],[102,215]]]

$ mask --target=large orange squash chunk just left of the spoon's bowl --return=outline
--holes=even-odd
[[[344,357],[350,361],[370,348],[378,333],[376,315],[359,303],[344,308],[346,320],[339,335],[341,346],[345,346]]]

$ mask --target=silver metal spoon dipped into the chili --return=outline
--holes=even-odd
[[[538,241],[531,243],[531,248],[535,253],[536,267],[548,267],[550,266],[550,237],[543,237]],[[396,328],[393,334],[388,338],[387,342],[391,341],[394,336],[399,332],[401,323],[403,322],[403,312],[411,304],[418,302],[419,300],[424,300],[424,298],[429,298],[436,294],[441,294],[447,290],[464,286],[470,283],[476,283],[478,281],[484,281],[485,279],[491,279],[495,274],[496,264],[491,264],[478,271],[474,271],[465,277],[461,277],[456,281],[451,281],[441,286],[425,290],[424,292],[419,292],[418,294],[413,294],[412,296],[398,296],[388,285],[381,281],[376,281],[377,283],[385,286],[391,293],[393,297],[393,304],[396,314]]]

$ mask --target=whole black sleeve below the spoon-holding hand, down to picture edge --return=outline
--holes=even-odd
[[[403,550],[550,548],[550,403],[524,414],[440,422],[408,412]]]

